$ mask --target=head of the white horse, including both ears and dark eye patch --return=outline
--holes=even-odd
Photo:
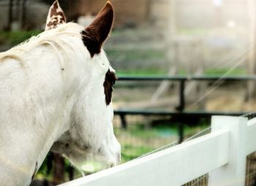
[[[102,44],[113,26],[113,7],[108,1],[87,28],[80,30],[76,48],[84,63],[80,67],[80,85],[75,88],[69,125],[53,144],[51,150],[68,158],[80,170],[86,163],[102,163],[102,168],[116,166],[120,160],[120,144],[113,133],[111,103],[116,75]],[[50,7],[45,30],[66,23],[63,10],[55,1]],[[72,41],[70,41],[72,42]],[[79,75],[78,75],[79,77]]]

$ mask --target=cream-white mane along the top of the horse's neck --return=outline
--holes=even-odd
[[[65,41],[65,39],[60,39],[59,36],[78,36],[82,39],[82,36],[80,34],[82,30],[83,27],[78,26],[78,24],[76,23],[64,23],[59,25],[57,28],[44,31],[37,36],[31,36],[30,39],[27,39],[26,41],[18,44],[17,46],[12,47],[10,50],[0,53],[0,63],[6,58],[14,58],[17,61],[24,62],[25,59],[23,57],[23,54],[29,53],[35,47],[39,47],[42,45],[49,45],[53,47],[53,50],[55,50],[55,52],[57,53],[58,58],[61,58],[59,48],[63,50],[63,54],[66,54],[67,47],[75,50],[75,46],[72,46],[72,44]],[[62,58],[65,57],[68,56],[63,56]]]

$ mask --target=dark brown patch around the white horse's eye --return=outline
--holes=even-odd
[[[103,83],[105,101],[107,106],[112,101],[113,85],[115,85],[116,80],[117,80],[116,74],[113,71],[108,70],[105,75],[105,82]]]

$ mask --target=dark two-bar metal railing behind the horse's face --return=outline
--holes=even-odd
[[[248,112],[207,112],[207,111],[195,111],[189,112],[186,111],[186,99],[185,99],[185,88],[186,82],[191,81],[204,81],[204,82],[248,82],[255,81],[256,76],[127,76],[127,77],[118,77],[118,82],[152,82],[152,81],[173,81],[179,82],[179,104],[176,106],[174,111],[165,111],[165,110],[148,110],[148,109],[116,109],[114,111],[115,115],[119,115],[121,118],[122,128],[127,128],[126,115],[157,115],[157,116],[170,116],[170,117],[179,117],[179,118],[211,118],[213,115],[230,115],[230,116],[241,116],[245,115]],[[184,139],[184,125],[180,123],[179,125],[179,142],[182,142]]]

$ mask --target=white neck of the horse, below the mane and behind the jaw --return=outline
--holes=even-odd
[[[68,130],[74,101],[64,87],[56,56],[34,63],[30,58],[27,68],[13,58],[0,63],[0,180],[26,185],[53,142]]]

